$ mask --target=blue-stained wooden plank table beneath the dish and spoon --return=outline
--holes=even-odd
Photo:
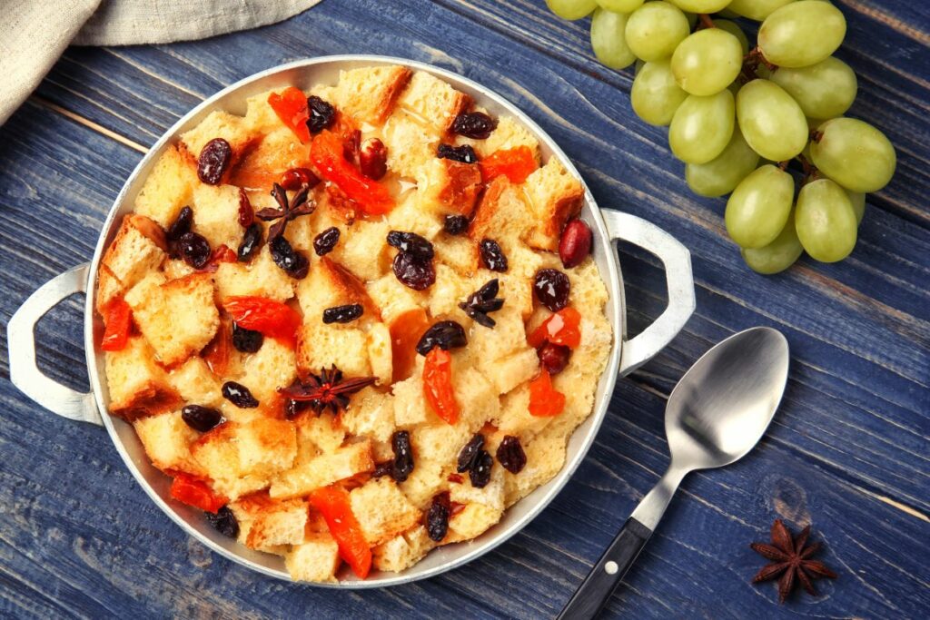
[[[0,127],[0,323],[39,284],[86,261],[144,148],[201,99],[288,60],[377,53],[435,63],[511,99],[562,144],[595,198],[673,232],[691,252],[697,312],[618,382],[565,491],[479,561],[429,581],[337,592],[250,573],[175,527],[105,432],[29,402],[0,351],[0,615],[538,618],[558,609],[668,456],[662,411],[684,369],[751,325],[792,350],[785,400],[737,465],[684,481],[611,600],[627,617],[927,617],[930,614],[930,14],[923,1],[839,0],[850,112],[895,143],[897,176],[871,195],[856,251],[763,277],[726,237],[724,201],[688,191],[665,130],[631,112],[631,71],[591,55],[588,21],[542,0],[326,0],[260,30],[169,46],[72,48]],[[0,59],[0,66],[2,66]],[[621,247],[633,331],[664,306],[658,261]],[[86,389],[80,300],[40,323],[42,367]],[[779,607],[750,585],[749,548],[780,517],[812,523],[840,574]]]

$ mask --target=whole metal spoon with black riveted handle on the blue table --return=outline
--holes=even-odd
[[[788,381],[788,341],[768,327],[726,338],[671,390],[665,433],[671,463],[559,614],[593,618],[656,530],[685,474],[742,458],[762,438]]]

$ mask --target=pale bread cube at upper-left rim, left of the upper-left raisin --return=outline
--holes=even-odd
[[[180,210],[191,204],[193,188],[199,183],[195,168],[177,145],[167,147],[136,196],[136,214],[153,219],[167,230]]]

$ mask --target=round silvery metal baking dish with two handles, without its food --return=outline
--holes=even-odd
[[[103,426],[110,434],[116,450],[123,457],[126,468],[139,481],[145,493],[184,532],[232,561],[253,571],[282,579],[289,579],[282,558],[253,551],[237,544],[215,532],[206,523],[199,510],[169,499],[168,478],[149,462],[132,426],[123,420],[106,415],[109,396],[104,381],[103,355],[98,347],[103,326],[94,312],[96,273],[104,249],[113,240],[120,220],[132,210],[136,194],[140,191],[142,182],[148,176],[158,156],[167,145],[177,140],[183,131],[199,123],[207,113],[225,110],[245,114],[246,98],[272,87],[293,85],[309,89],[315,84],[334,84],[340,70],[379,64],[405,65],[414,70],[432,73],[471,95],[477,104],[484,106],[492,114],[512,115],[537,137],[544,158],[557,157],[568,170],[580,178],[565,152],[562,152],[528,116],[494,92],[461,75],[412,60],[381,56],[329,56],[299,60],[257,73],[229,86],[206,99],[168,129],[166,134],[142,158],[140,164],[126,180],[123,190],[116,197],[100,231],[100,240],[89,265],[80,265],[66,271],[40,287],[20,306],[7,328],[10,378],[17,388],[33,401],[59,416]],[[598,385],[594,411],[571,437],[565,467],[551,481],[540,486],[507,510],[495,527],[473,541],[435,549],[425,559],[401,574],[376,572],[365,581],[359,581],[351,572],[346,571],[340,575],[342,580],[339,583],[320,584],[320,586],[382,587],[425,579],[472,561],[519,532],[526,523],[546,508],[578,468],[578,464],[588,452],[601,427],[617,377],[626,375],[645,363],[682,329],[695,308],[691,259],[684,245],[672,238],[668,232],[660,230],[642,218],[613,210],[602,211],[594,203],[590,191],[585,192],[585,204],[581,217],[591,225],[594,233],[594,258],[609,292],[606,313],[613,325],[614,343],[606,370]],[[643,333],[630,339],[626,337],[623,280],[620,276],[617,251],[614,247],[614,242],[617,240],[638,245],[656,255],[665,265],[668,282],[669,307]],[[84,323],[85,349],[91,388],[91,391],[87,393],[61,386],[38,370],[35,364],[33,331],[35,323],[48,310],[64,298],[81,292],[87,292]],[[103,412],[102,416],[101,412]]]

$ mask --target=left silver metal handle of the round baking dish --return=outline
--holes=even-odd
[[[78,265],[39,287],[7,324],[9,378],[20,391],[46,409],[68,419],[103,425],[93,392],[66,388],[45,376],[35,364],[35,323],[74,293],[84,293],[87,264]]]

